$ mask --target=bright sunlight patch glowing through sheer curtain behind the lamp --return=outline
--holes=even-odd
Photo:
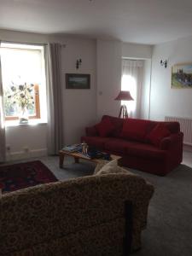
[[[121,101],[121,105],[125,105],[128,113],[136,110],[137,91],[136,91],[136,79],[131,75],[123,75],[121,79],[121,90],[129,90],[134,101],[124,102]]]

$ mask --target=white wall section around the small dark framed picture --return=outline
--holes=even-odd
[[[79,143],[84,127],[96,123],[96,41],[66,38],[62,50],[64,143]],[[76,69],[76,61],[82,64]],[[90,90],[65,89],[65,73],[89,73]]]

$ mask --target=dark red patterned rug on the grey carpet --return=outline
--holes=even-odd
[[[2,193],[55,181],[57,178],[54,174],[39,160],[0,167]]]

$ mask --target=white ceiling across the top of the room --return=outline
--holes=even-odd
[[[0,28],[160,44],[192,35],[192,0],[0,0]]]

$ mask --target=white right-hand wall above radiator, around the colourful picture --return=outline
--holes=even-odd
[[[160,66],[161,59],[168,60],[167,68]],[[172,65],[184,62],[192,63],[192,37],[154,46],[150,119],[163,120],[166,115],[192,118],[192,90],[171,88]]]

